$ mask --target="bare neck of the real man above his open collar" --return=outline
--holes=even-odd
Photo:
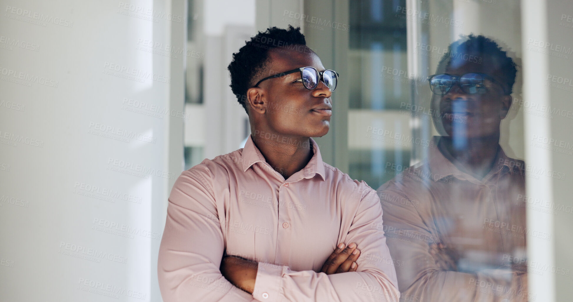
[[[314,155],[310,138],[273,136],[268,132],[262,135],[262,132],[259,134],[254,134],[254,132],[251,134],[253,143],[261,151],[266,162],[284,179],[288,179],[291,175],[302,170]],[[271,138],[278,137],[279,139],[265,138],[269,135]]]

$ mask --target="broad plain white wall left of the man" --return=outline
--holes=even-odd
[[[124,2],[0,1],[2,301],[160,301],[187,14]]]

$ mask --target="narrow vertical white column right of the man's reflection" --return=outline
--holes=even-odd
[[[533,22],[535,20],[535,22]],[[549,61],[546,54],[531,52],[528,48],[529,39],[547,41],[547,1],[525,0],[521,2],[521,45],[523,53],[523,92],[524,99],[535,101],[541,106],[550,105],[550,93],[545,83],[549,71]],[[534,135],[551,136],[550,121],[543,116],[524,116],[524,136],[528,142]],[[552,165],[550,150],[525,144],[525,163],[534,169],[549,169]],[[553,202],[553,178],[540,175],[537,179],[527,177],[526,193],[528,198]],[[550,214],[527,209],[527,228],[535,232],[553,234],[553,217]],[[527,236],[527,258],[532,262],[548,266],[555,264],[554,238],[534,237],[533,232]],[[529,292],[536,296],[537,301],[552,302],[555,300],[555,274],[528,274]]]

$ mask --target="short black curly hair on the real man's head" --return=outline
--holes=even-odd
[[[233,53],[233,61],[227,69],[231,75],[231,90],[237,96],[239,104],[249,113],[245,103],[247,90],[254,84],[269,60],[269,51],[280,46],[294,44],[307,45],[304,34],[300,28],[281,29],[273,26],[266,29],[266,32],[258,32],[250,41],[245,41],[246,45],[238,52]]]

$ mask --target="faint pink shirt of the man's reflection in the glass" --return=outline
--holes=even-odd
[[[492,170],[476,179],[437,139],[427,160],[378,189],[402,300],[535,300],[527,291],[524,162],[499,147]]]

